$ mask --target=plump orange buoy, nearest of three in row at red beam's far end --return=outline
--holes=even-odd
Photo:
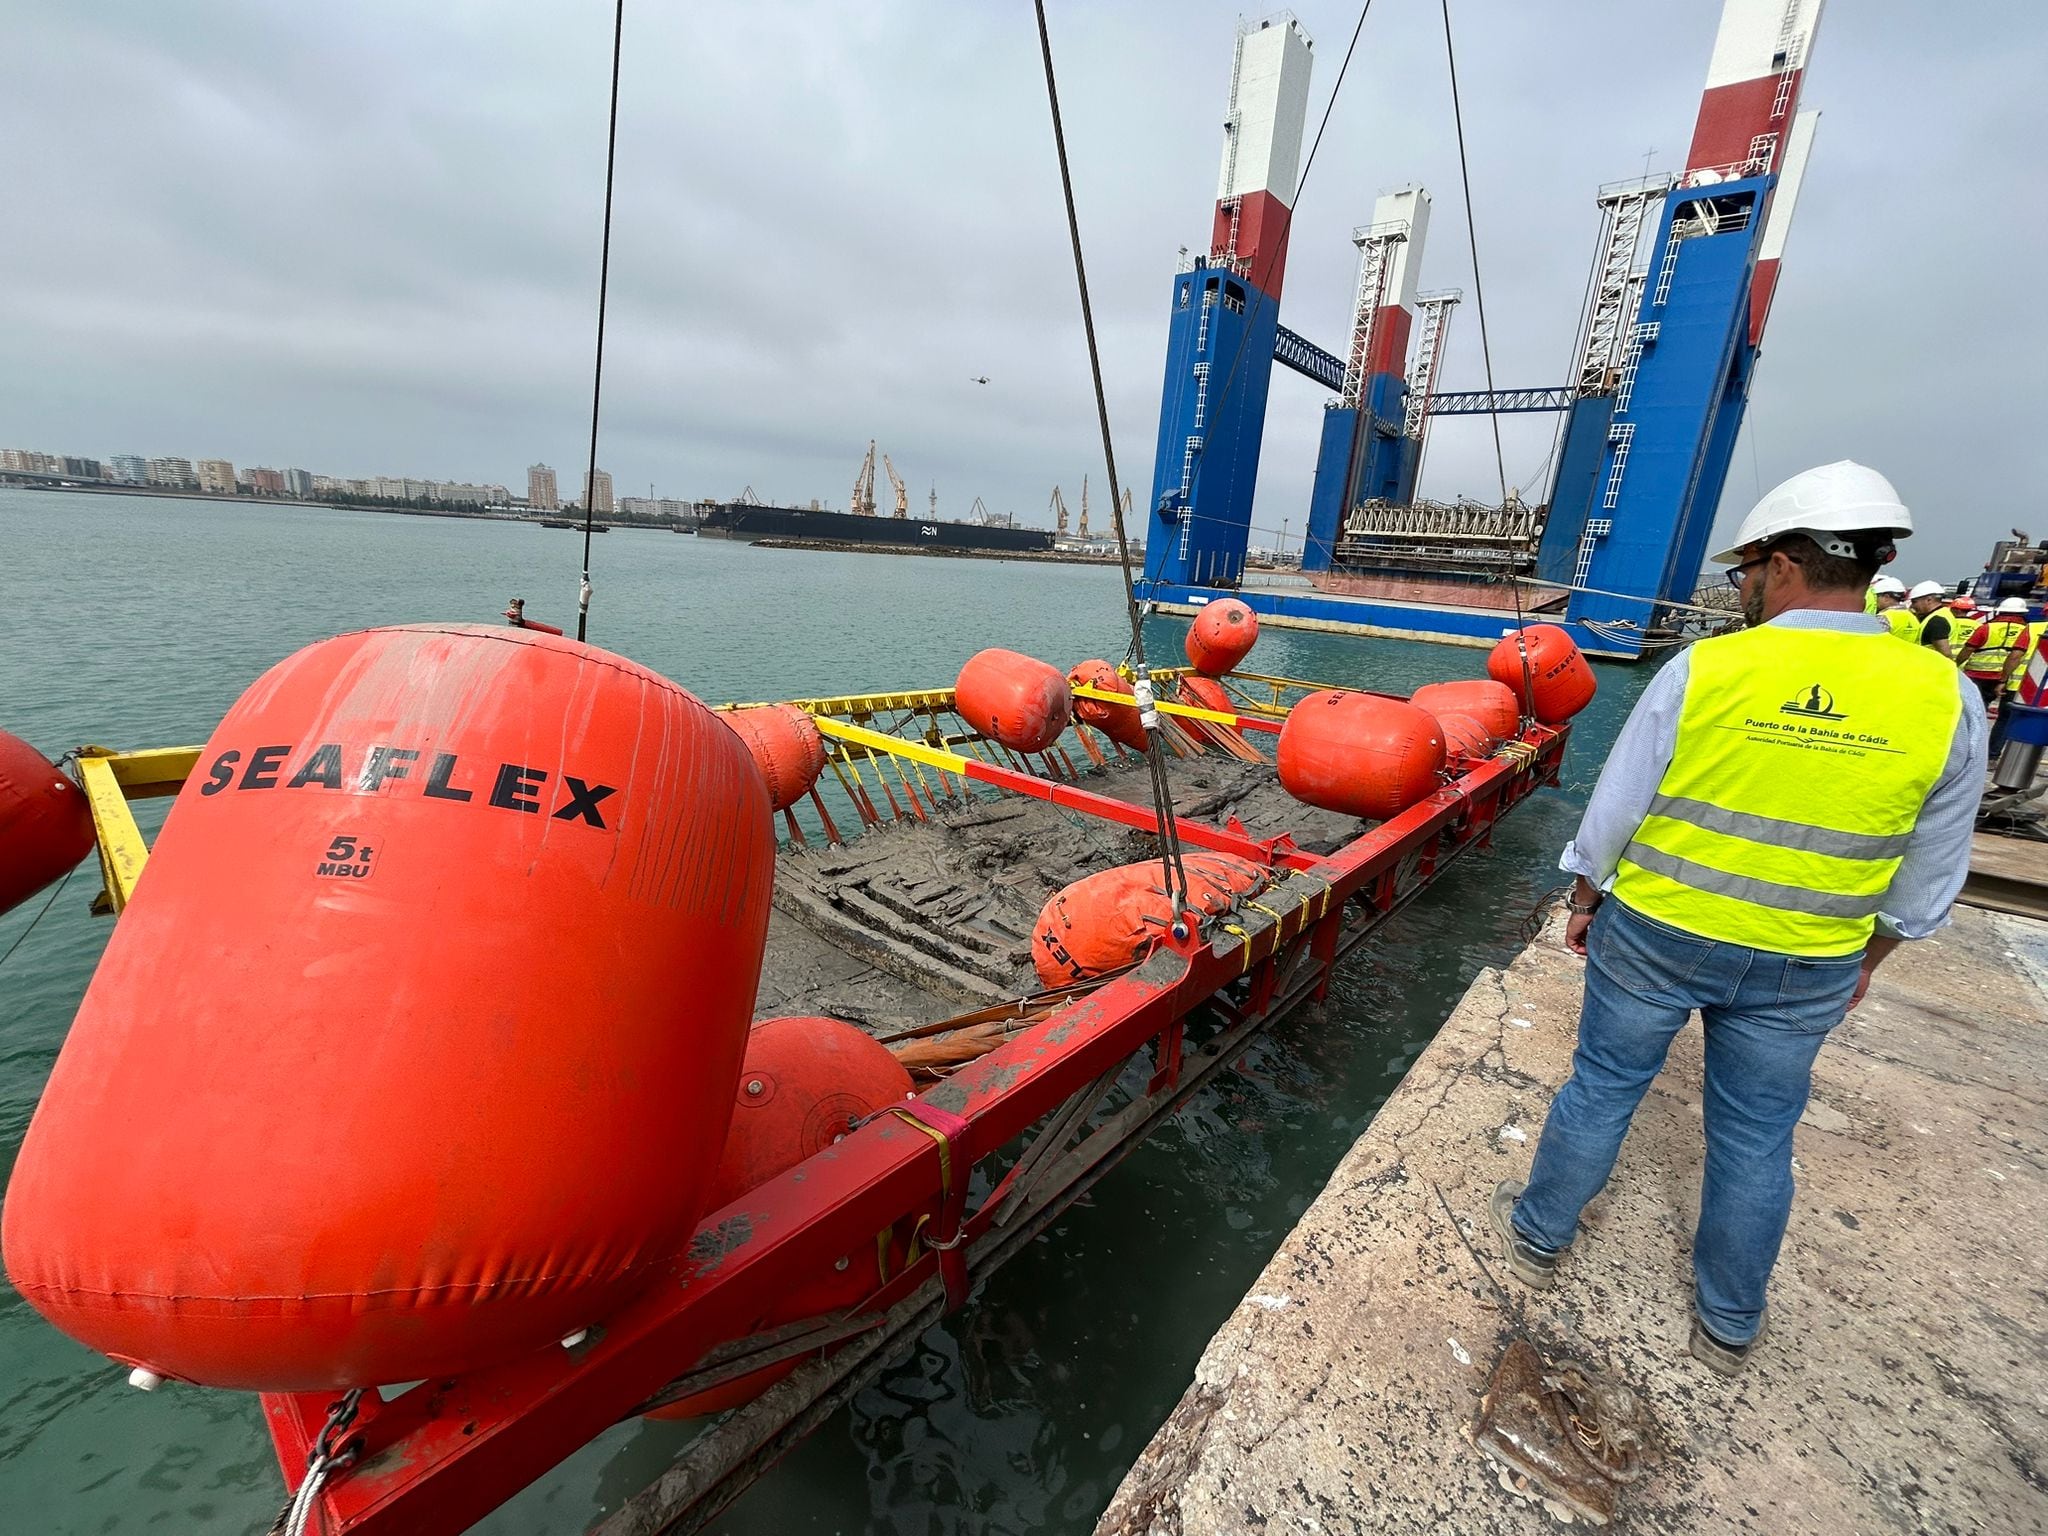
[[[1399,698],[1319,692],[1288,711],[1274,756],[1296,801],[1384,821],[1436,791],[1444,731]]]

